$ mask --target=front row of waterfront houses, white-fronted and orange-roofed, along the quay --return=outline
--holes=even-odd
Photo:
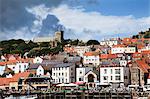
[[[125,87],[131,84],[150,84],[150,67],[144,60],[138,60],[132,65],[128,63],[126,66],[121,66],[119,62],[112,62],[104,61],[97,68],[95,66],[77,65],[72,62],[49,61],[47,64],[31,64],[25,72],[16,73],[14,76],[7,78],[0,78],[0,80],[3,80],[3,82],[0,82],[0,88],[23,90],[27,89],[29,83],[33,88],[48,88],[50,84],[75,82],[84,82],[89,88],[109,85]],[[28,75],[24,77],[26,73]],[[17,79],[16,75],[18,75]],[[16,80],[14,81],[14,79]],[[20,81],[20,79],[22,80]],[[12,84],[13,82],[15,84]]]

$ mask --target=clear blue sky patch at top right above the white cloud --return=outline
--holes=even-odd
[[[71,1],[71,0],[70,0]],[[74,1],[74,2],[73,2]],[[83,6],[86,11],[97,11],[104,15],[134,17],[149,16],[149,0],[73,0],[69,4],[72,6]],[[80,1],[78,3],[78,1]]]

